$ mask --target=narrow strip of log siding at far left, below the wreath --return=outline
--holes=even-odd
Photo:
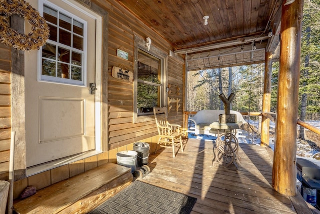
[[[0,180],[7,180],[11,134],[11,51],[0,43],[0,53]]]

